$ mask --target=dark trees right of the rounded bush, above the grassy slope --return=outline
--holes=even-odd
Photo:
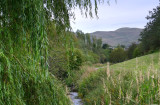
[[[160,6],[149,11],[149,21],[140,33],[139,44],[132,44],[128,49],[129,59],[156,52],[160,49]]]

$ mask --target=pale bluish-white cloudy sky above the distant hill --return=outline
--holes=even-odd
[[[106,0],[104,0],[106,1]],[[75,32],[77,29],[85,33],[95,31],[113,31],[122,27],[144,28],[147,24],[145,18],[149,11],[159,5],[159,0],[110,0],[100,4],[98,17],[86,18],[78,9],[75,12],[76,19],[71,19],[71,27]]]

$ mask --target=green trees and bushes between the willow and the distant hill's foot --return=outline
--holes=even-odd
[[[48,26],[49,35],[49,71],[61,80],[79,70],[83,64],[104,63],[109,60],[108,44],[102,46],[102,40],[91,37],[78,30],[76,33],[58,33],[55,25]]]

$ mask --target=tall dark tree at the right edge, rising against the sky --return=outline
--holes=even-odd
[[[153,52],[160,48],[160,6],[149,12],[146,17],[149,22],[141,33],[141,45],[144,53]]]

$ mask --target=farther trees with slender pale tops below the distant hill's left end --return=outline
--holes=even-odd
[[[78,38],[79,48],[88,56],[92,55],[94,59],[89,60],[91,63],[105,63],[109,61],[109,53],[111,48],[108,44],[102,44],[101,38],[84,34],[82,31],[77,30],[76,36]],[[89,58],[88,58],[89,59]]]

